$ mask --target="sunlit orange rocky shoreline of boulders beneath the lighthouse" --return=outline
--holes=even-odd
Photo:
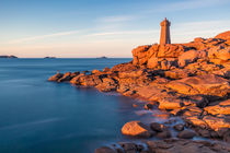
[[[230,31],[186,44],[139,46],[131,52],[133,61],[111,69],[58,72],[48,79],[141,99],[145,105],[134,107],[157,108],[157,116],[168,119],[149,125],[130,120],[120,131],[141,138],[141,143],[118,142],[95,153],[230,152]]]

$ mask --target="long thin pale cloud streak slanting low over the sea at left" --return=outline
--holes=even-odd
[[[48,34],[48,35],[25,37],[25,38],[20,38],[20,39],[11,40],[8,44],[19,44],[19,43],[25,43],[25,42],[31,42],[31,40],[44,39],[44,38],[49,38],[49,37],[73,35],[73,34],[77,34],[80,31],[69,31],[69,32],[60,32],[60,33],[54,33],[54,34]]]

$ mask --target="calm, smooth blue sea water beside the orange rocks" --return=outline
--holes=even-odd
[[[90,153],[125,139],[134,101],[46,80],[131,59],[0,59],[0,152]]]

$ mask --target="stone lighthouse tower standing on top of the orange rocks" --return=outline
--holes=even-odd
[[[164,21],[161,22],[161,39],[160,39],[160,45],[164,44],[171,44],[171,38],[170,38],[170,21],[164,19]]]

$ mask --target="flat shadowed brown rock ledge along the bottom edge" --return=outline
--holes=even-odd
[[[229,153],[230,146],[222,142],[165,139],[118,142],[95,150],[95,153]]]

